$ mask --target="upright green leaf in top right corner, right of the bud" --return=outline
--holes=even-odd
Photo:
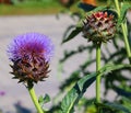
[[[122,4],[121,10],[120,10],[120,18],[118,20],[118,24],[121,24],[124,21],[127,11],[129,9],[131,9],[131,4],[129,4],[129,3],[123,3]]]

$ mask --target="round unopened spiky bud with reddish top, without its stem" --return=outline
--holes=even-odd
[[[112,14],[108,15],[107,12],[96,12],[88,15],[83,23],[84,37],[93,43],[106,43],[115,36],[116,22]]]

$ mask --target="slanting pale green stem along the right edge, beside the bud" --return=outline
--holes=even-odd
[[[120,7],[119,7],[119,1],[118,0],[115,0],[115,5],[116,5],[117,12],[118,12],[118,16],[120,18]],[[122,29],[126,49],[127,49],[127,55],[128,55],[129,61],[131,64],[131,48],[130,48],[130,44],[129,44],[129,41],[128,41],[127,23],[122,22],[121,23],[121,29]]]

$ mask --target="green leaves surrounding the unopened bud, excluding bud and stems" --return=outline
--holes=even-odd
[[[118,14],[116,13],[116,10],[114,9],[114,5],[95,8],[93,11],[91,11],[91,12],[94,12],[94,11],[104,10],[104,11],[109,11],[109,13],[111,12],[116,18],[116,21],[118,22],[117,25],[119,27],[119,31],[117,31],[116,37],[112,39],[114,52],[106,46],[104,46],[106,54],[102,49],[102,60],[104,65],[108,64],[109,61],[112,61],[114,65],[106,65],[98,72],[102,75],[106,75],[103,78],[104,87],[105,87],[104,94],[106,95],[108,93],[108,90],[114,90],[117,93],[117,97],[119,97],[120,99],[118,100],[116,98],[112,103],[108,102],[109,100],[103,100],[103,104],[97,104],[102,106],[102,109],[104,110],[103,111],[104,113],[130,113],[131,112],[131,110],[129,109],[130,105],[127,104],[128,103],[127,101],[123,102],[123,99],[122,99],[123,97],[130,95],[130,90],[128,89],[130,89],[131,87],[130,84],[131,79],[129,76],[126,76],[123,71],[131,72],[131,67],[130,65],[124,65],[128,58],[127,58],[126,48],[124,46],[121,45],[121,42],[123,42],[123,37],[121,33],[121,27],[120,27],[120,23],[124,21],[126,14],[129,8],[130,8],[130,4],[126,7],[126,4],[123,3],[121,8],[122,10],[120,12],[121,16],[118,16]],[[90,14],[91,12],[86,12],[86,14]],[[83,18],[82,16],[79,16],[79,18],[80,18],[80,21],[76,23],[76,25],[75,26],[71,25],[66,31],[62,43],[67,43],[70,39],[73,39],[79,33],[82,32]],[[95,77],[97,74],[96,72],[91,74],[91,71],[88,71],[87,69],[87,67],[95,61],[95,59],[92,58],[93,52],[95,50],[94,45],[91,45],[91,46],[80,45],[76,50],[66,50],[64,57],[60,60],[60,63],[64,64],[67,60],[70,60],[70,57],[73,57],[76,54],[81,54],[85,50],[88,52],[88,56],[91,57],[88,58],[87,56],[88,59],[86,59],[86,61],[83,63],[81,66],[78,66],[78,70],[74,70],[74,72],[78,72],[78,74],[82,72],[84,76],[81,78],[81,76],[76,75],[76,78],[81,78],[79,81],[76,81],[75,76],[73,76],[72,75],[73,72],[72,72],[70,77],[67,80],[64,80],[64,83],[62,83],[60,87],[62,91],[64,91],[67,87],[70,88],[69,84],[71,84],[72,82],[76,82],[76,83],[67,93],[62,102],[56,108],[51,109],[52,111],[56,111],[52,113],[58,113],[58,111],[59,113],[73,113],[74,105],[78,105],[78,102],[83,97],[86,89],[95,81]],[[86,87],[84,86],[85,82],[87,82]],[[115,82],[117,82],[118,84],[116,84]],[[130,97],[127,97],[127,98],[130,100]],[[88,108],[88,106],[85,106],[85,108]]]

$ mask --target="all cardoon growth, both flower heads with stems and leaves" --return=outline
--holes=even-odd
[[[88,3],[85,2],[86,0],[82,1],[82,3]],[[85,42],[92,42],[92,45],[82,45],[75,50],[64,53],[64,57],[61,59],[61,63],[64,63],[71,56],[81,54],[84,50],[87,50],[88,55],[86,54],[86,61],[74,70],[70,75],[70,78],[64,80],[63,84],[60,87],[61,91],[57,97],[61,95],[63,90],[68,89],[62,101],[52,105],[47,113],[74,113],[75,105],[85,109],[85,111],[81,112],[78,112],[76,109],[76,113],[131,113],[131,79],[122,76],[123,74],[120,72],[123,69],[131,72],[131,44],[129,43],[130,38],[128,37],[126,21],[127,10],[131,8],[131,5],[114,0],[114,5],[92,7],[88,12],[87,4],[79,7],[83,9],[83,11],[78,12],[78,14],[75,13],[75,15],[79,16],[79,22],[76,25],[68,27],[69,30],[64,34],[62,43],[67,43],[74,38],[79,33],[82,33],[82,37],[85,38]],[[70,30],[72,31],[70,32]],[[79,39],[82,39],[82,37]],[[121,42],[116,42],[116,37],[119,37],[118,39],[124,42],[124,46],[121,47]],[[106,57],[100,46],[104,43],[109,44],[109,41],[112,43],[112,46],[116,47],[116,52],[111,52],[111,49],[105,47],[108,56]],[[96,52],[95,58],[91,55],[94,49]],[[20,35],[9,45],[8,54],[10,60],[13,63],[11,65],[11,74],[14,76],[13,78],[19,79],[19,82],[23,82],[26,86],[37,112],[44,113],[45,111],[43,111],[39,105],[39,103],[43,104],[44,99],[41,97],[39,101],[37,100],[33,87],[34,83],[44,81],[50,71],[49,61],[53,54],[53,45],[50,39],[38,33]],[[126,63],[126,55],[129,59],[128,64]],[[104,65],[103,67],[102,61]],[[96,63],[96,69],[93,72],[88,70],[88,66],[94,63]],[[122,97],[123,99],[121,98],[121,100],[118,101],[118,98],[116,98],[112,102],[110,102],[110,100],[103,99],[100,95],[100,80],[103,78],[105,80],[104,86],[107,88],[105,90],[111,89],[118,97],[120,95],[119,98]],[[84,93],[95,81],[96,95],[94,99],[85,99]],[[69,90],[68,87],[72,88]],[[95,111],[88,112],[87,109],[90,105],[93,105]]]

